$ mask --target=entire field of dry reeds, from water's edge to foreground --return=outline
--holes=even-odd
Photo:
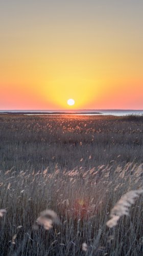
[[[0,255],[142,255],[142,134],[142,117],[1,115]]]

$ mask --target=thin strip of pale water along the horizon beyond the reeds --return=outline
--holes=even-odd
[[[81,109],[81,110],[2,110],[0,114],[4,113],[12,113],[12,114],[24,114],[24,115],[42,115],[42,114],[50,114],[56,115],[73,113],[77,115],[99,115],[96,113],[100,113],[101,115],[112,115],[112,116],[126,116],[126,115],[143,115],[143,110],[114,110],[114,109]],[[84,113],[84,114],[82,114]]]

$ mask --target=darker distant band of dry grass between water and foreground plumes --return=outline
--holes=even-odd
[[[143,121],[128,117],[0,115],[0,166],[53,171],[57,162],[61,170],[141,163],[142,135]]]

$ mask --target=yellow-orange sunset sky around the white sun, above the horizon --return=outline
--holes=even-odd
[[[1,1],[0,109],[143,109],[142,25],[142,0]]]

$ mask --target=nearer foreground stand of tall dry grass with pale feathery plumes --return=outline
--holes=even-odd
[[[1,255],[84,255],[83,243],[88,246],[86,255],[141,255],[141,196],[116,227],[109,229],[106,222],[121,195],[141,188],[142,168],[128,163],[124,169],[101,166],[61,172],[57,167],[52,174],[1,174],[1,207],[7,210],[1,218]],[[39,225],[45,209],[54,210],[59,221]]]

